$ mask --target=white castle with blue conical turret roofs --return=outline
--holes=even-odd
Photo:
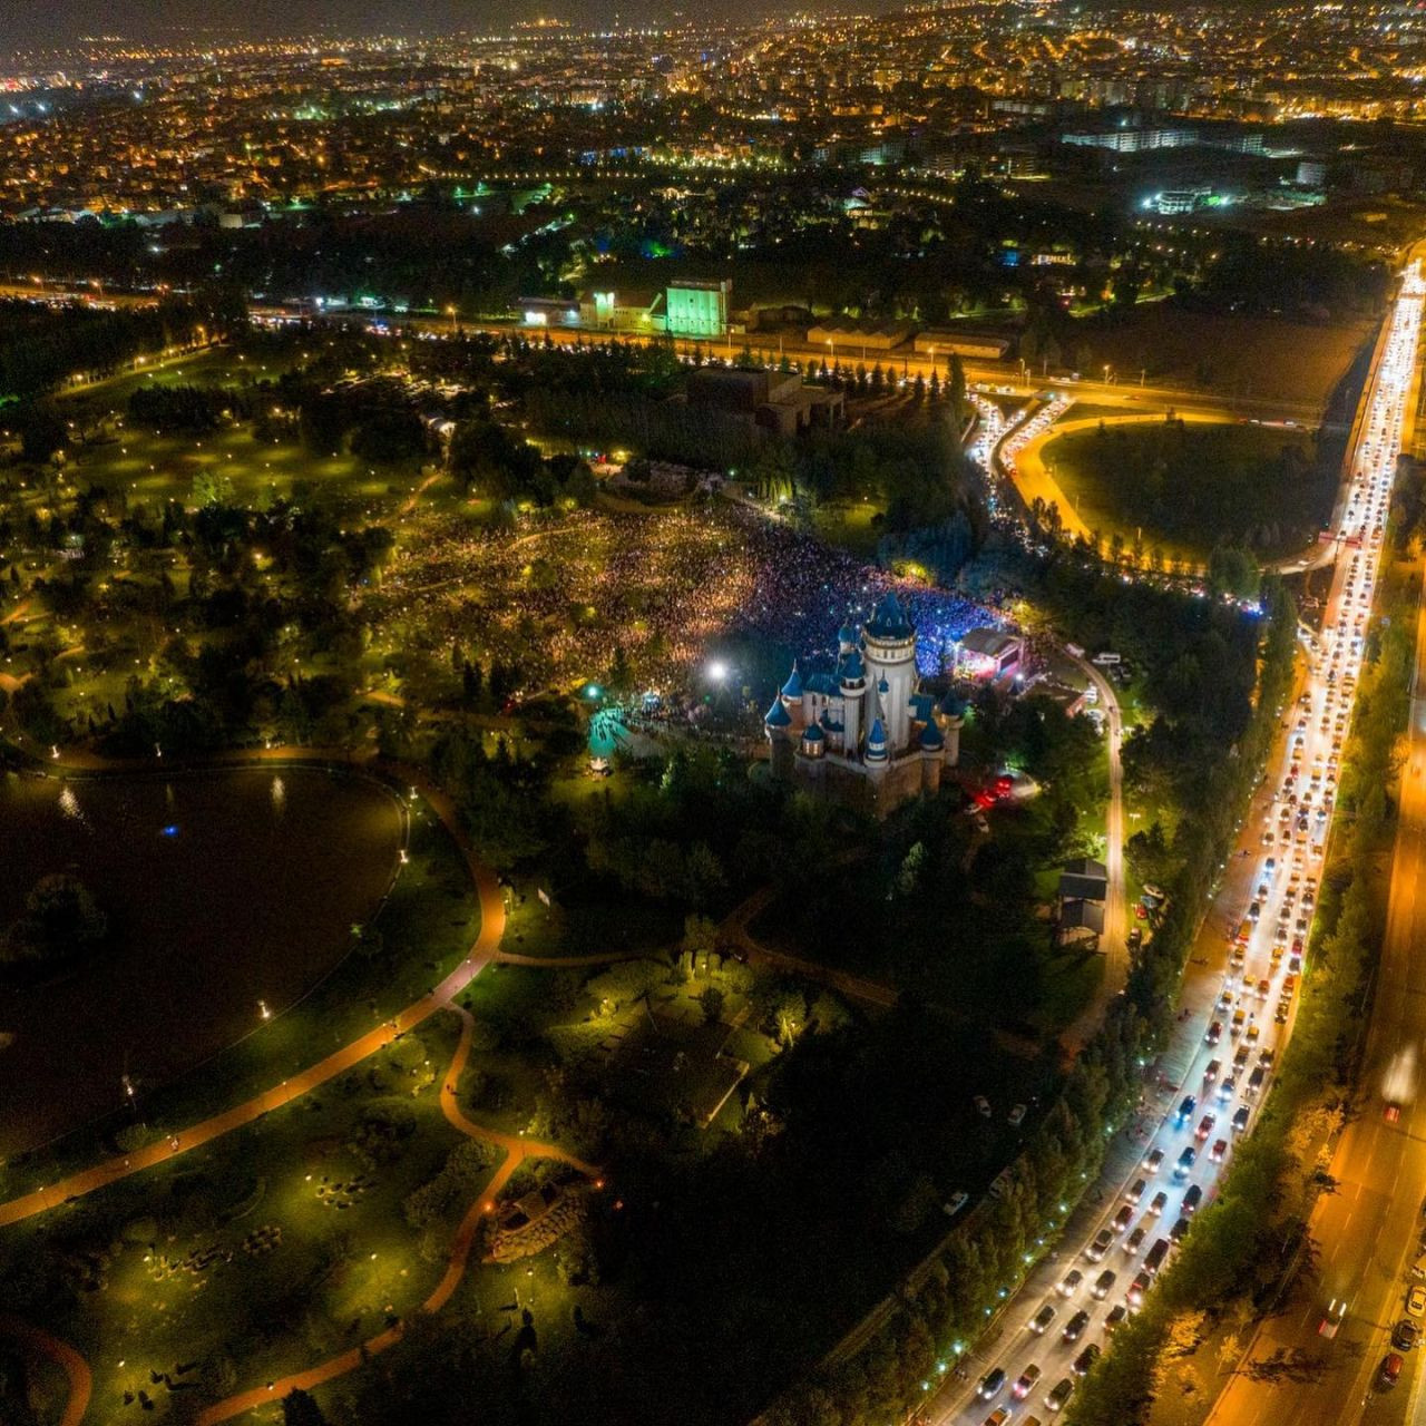
[[[793,666],[763,727],[774,776],[837,783],[881,811],[937,791],[941,770],[960,760],[958,709],[938,717],[935,699],[920,690],[915,629],[894,592],[860,635],[850,622],[841,627],[830,670],[804,676]]]

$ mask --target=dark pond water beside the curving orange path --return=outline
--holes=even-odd
[[[174,777],[0,777],[0,930],[40,877],[76,874],[103,951],[0,988],[0,1156],[123,1107],[298,1000],[391,884],[401,811],[314,767]]]

